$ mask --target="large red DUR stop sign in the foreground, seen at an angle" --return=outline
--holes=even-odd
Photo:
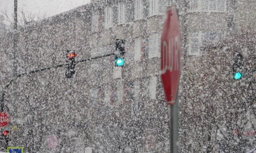
[[[176,7],[166,10],[161,37],[161,78],[167,105],[174,105],[180,79],[181,34]]]

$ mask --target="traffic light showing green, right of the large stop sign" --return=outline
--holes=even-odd
[[[241,53],[234,54],[233,57],[233,77],[235,80],[242,78],[242,66],[243,66],[243,56]]]

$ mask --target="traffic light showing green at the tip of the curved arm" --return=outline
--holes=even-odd
[[[116,39],[115,66],[124,66],[125,40]]]

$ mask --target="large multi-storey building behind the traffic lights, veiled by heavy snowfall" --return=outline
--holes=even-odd
[[[233,81],[238,49],[232,47],[239,39],[229,38],[248,26],[250,35],[255,33],[253,1],[92,0],[21,28],[18,70],[65,63],[67,50],[76,51],[77,60],[113,53],[116,39],[125,39],[125,66],[115,67],[108,56],[78,63],[71,79],[65,78],[65,67],[20,77],[18,134],[27,152],[86,147],[93,152],[169,152],[169,111],[159,67],[165,8],[171,4],[179,9],[182,32],[180,152],[252,148],[255,94],[234,94],[234,87],[255,84]],[[247,53],[255,56],[253,50]],[[245,61],[252,66],[255,59]],[[11,116],[11,89],[6,93]],[[244,139],[246,130],[251,135]]]

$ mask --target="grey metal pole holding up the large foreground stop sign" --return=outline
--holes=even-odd
[[[170,153],[179,152],[179,103],[178,94],[175,100],[175,104],[170,106]]]

